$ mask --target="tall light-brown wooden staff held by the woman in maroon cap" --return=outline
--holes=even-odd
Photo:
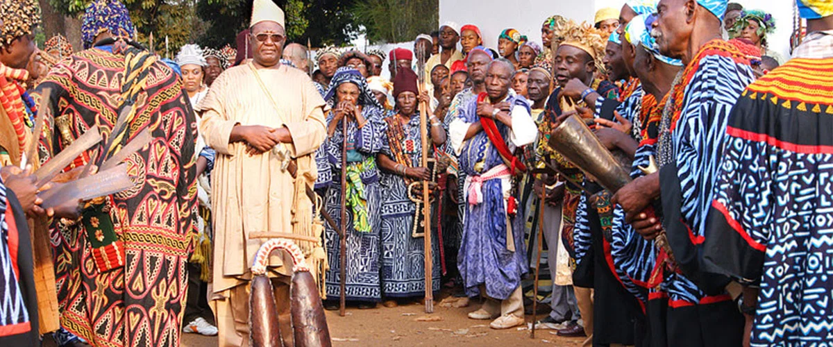
[[[416,57],[418,61],[419,74],[419,92],[425,92],[425,61],[426,57],[421,50],[417,50]],[[421,166],[428,167],[428,148],[431,146],[428,143],[428,112],[431,108],[428,107],[428,102],[425,100],[419,103],[419,121],[420,121],[420,140],[422,143],[422,158]],[[434,312],[434,292],[433,287],[433,257],[431,256],[431,201],[429,200],[428,181],[422,181],[422,227],[425,233],[425,312]]]

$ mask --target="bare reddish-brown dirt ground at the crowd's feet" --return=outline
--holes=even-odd
[[[432,315],[426,315],[425,305],[419,303],[394,308],[378,305],[372,310],[348,306],[344,317],[339,316],[338,311],[327,311],[327,325],[336,346],[579,346],[584,340],[560,337],[552,330],[536,330],[536,338],[532,340],[526,327],[492,330],[489,320],[470,320],[466,316],[478,305],[472,303],[469,307],[456,309],[435,303]],[[420,320],[426,317],[438,317],[439,320]],[[538,318],[541,319],[541,315]],[[527,321],[531,319],[531,315],[526,316]],[[217,339],[184,334],[182,345],[208,347],[217,345]]]

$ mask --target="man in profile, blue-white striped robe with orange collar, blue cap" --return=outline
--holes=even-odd
[[[662,113],[657,159],[660,171],[636,178],[614,196],[626,221],[646,238],[667,235],[676,270],[661,274],[667,295],[667,345],[740,345],[743,318],[722,290],[728,278],[701,270],[726,121],[743,89],[754,80],[746,55],[721,40],[726,1],[661,0],[651,23],[659,52],[686,64]],[[661,197],[662,224],[643,212]],[[658,255],[664,257],[664,251]],[[653,328],[653,327],[652,327]],[[659,327],[657,329],[660,329]],[[652,334],[654,333],[652,329]]]

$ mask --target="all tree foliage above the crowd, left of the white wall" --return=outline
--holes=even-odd
[[[437,27],[437,0],[273,0],[287,17],[287,41],[314,47],[344,46],[364,27],[372,42],[413,40]],[[92,0],[49,0],[67,16],[80,17]],[[139,42],[172,57],[179,47],[234,45],[248,27],[252,0],[122,0],[136,25]]]

